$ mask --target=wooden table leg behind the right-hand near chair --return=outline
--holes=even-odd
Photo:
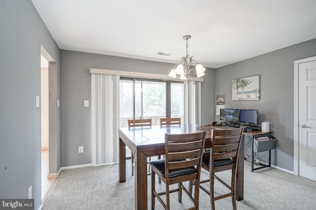
[[[236,200],[243,200],[243,176],[244,176],[244,137],[241,138],[238,156],[238,168],[236,178]]]

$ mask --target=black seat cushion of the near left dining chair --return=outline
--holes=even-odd
[[[150,165],[156,168],[163,178],[166,178],[165,173],[165,159],[154,160],[150,162]],[[197,173],[197,169],[195,167],[189,167],[184,169],[174,169],[169,170],[169,178],[180,177],[184,175]]]

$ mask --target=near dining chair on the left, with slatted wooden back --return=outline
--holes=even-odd
[[[202,155],[206,131],[188,134],[165,134],[165,159],[150,162],[152,167],[152,210],[155,209],[156,197],[165,210],[170,210],[169,194],[178,192],[178,201],[182,202],[182,190],[194,202],[190,210],[198,210],[199,177],[201,172]],[[155,176],[165,183],[165,191],[155,189]],[[182,182],[195,180],[194,198]],[[169,190],[169,185],[178,183],[178,188]],[[166,203],[160,196],[166,196]]]

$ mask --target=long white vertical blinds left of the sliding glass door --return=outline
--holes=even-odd
[[[91,74],[92,165],[118,161],[119,75]]]

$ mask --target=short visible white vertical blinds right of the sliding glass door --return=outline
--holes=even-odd
[[[184,82],[184,123],[201,124],[201,82]]]

